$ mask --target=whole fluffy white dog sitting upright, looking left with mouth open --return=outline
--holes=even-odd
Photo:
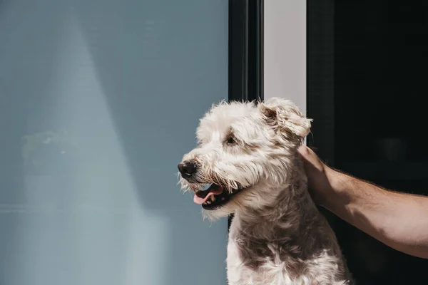
[[[198,146],[183,156],[179,179],[204,218],[233,214],[228,284],[351,284],[297,152],[311,122],[282,98],[221,102],[200,120]]]

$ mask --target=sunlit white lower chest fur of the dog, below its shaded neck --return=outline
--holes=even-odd
[[[285,257],[277,244],[253,244],[243,240],[240,221],[235,217],[230,226],[228,241],[229,285],[342,285],[337,278],[337,259],[320,254],[314,259]]]

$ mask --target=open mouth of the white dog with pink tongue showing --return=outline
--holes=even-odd
[[[213,183],[210,185],[210,187],[208,187],[207,190],[200,190],[195,192],[193,202],[196,204],[201,204],[203,209],[218,209],[229,202],[233,195],[240,192],[240,190],[241,189],[228,191],[225,189],[225,187]]]

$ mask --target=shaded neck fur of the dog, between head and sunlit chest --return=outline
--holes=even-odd
[[[257,267],[265,259],[268,247],[280,247],[284,257],[305,260],[322,250],[341,257],[335,235],[307,192],[307,178],[299,162],[290,180],[279,190],[277,199],[259,209],[235,212],[230,239],[240,246],[245,264]],[[317,239],[314,239],[317,237]],[[281,259],[282,260],[282,259]]]

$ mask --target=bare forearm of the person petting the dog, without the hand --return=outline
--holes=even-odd
[[[334,190],[327,209],[389,247],[428,258],[428,197],[383,190],[334,170],[328,175]]]

